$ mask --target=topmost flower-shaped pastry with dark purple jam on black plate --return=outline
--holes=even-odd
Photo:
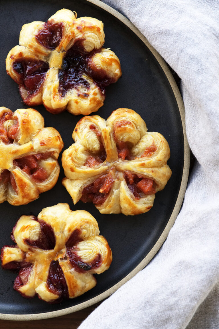
[[[98,111],[105,87],[121,76],[120,61],[104,44],[103,23],[62,9],[48,21],[23,25],[6,70],[25,104],[53,113]]]

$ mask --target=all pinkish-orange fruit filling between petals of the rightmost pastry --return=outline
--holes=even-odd
[[[129,127],[133,128],[133,123],[127,120],[120,120],[116,121],[114,124],[113,129],[113,137],[116,142],[116,148],[118,152],[118,159],[122,160],[134,160],[136,156],[132,154],[132,147],[133,147],[133,139],[135,139],[135,142],[140,139],[140,135],[135,137],[131,136],[132,142],[129,140],[122,141],[120,139],[120,129],[124,129],[124,126],[127,128],[126,130],[129,130]],[[89,168],[94,167],[98,164],[103,163],[106,160],[106,151],[104,149],[102,140],[101,140],[101,134],[94,124],[90,124],[89,129],[96,134],[97,139],[99,141],[99,151],[95,153],[90,152],[91,154],[88,155],[84,166],[87,166]],[[124,135],[124,132],[123,132]],[[122,137],[123,137],[122,135]],[[128,137],[124,138],[127,139]],[[155,151],[157,150],[157,147],[155,144],[152,144],[145,148],[143,154],[140,156],[140,158],[143,157],[150,157],[152,156]],[[117,162],[117,161],[116,161]],[[110,171],[107,174],[104,174],[100,177],[98,177],[94,182],[87,185],[82,190],[82,196],[80,200],[82,202],[93,202],[95,205],[102,205],[107,197],[109,196],[109,192],[113,187],[113,183],[116,179],[120,180],[120,174],[116,173],[116,171],[123,170],[116,165],[116,162],[107,164]],[[114,172],[114,178],[112,176],[112,173]],[[154,182],[153,179],[145,178],[142,175],[137,175],[132,171],[125,170],[123,172],[123,177],[125,179],[125,182],[127,184],[127,187],[129,190],[133,193],[134,197],[136,199],[140,199],[142,197],[145,197],[145,195],[151,195],[155,194],[157,192],[157,184]]]

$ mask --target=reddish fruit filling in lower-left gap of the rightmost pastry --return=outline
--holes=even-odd
[[[80,200],[82,202],[93,202],[95,205],[103,204],[112,189],[113,183],[114,178],[111,173],[100,176],[83,189]]]

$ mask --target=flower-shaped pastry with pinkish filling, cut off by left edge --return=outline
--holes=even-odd
[[[55,128],[44,128],[38,111],[0,107],[0,203],[27,204],[52,189],[63,145]]]

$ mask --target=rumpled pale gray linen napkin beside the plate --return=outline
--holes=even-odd
[[[197,160],[158,254],[79,328],[218,329],[219,2],[103,2],[126,15],[182,79],[186,133]]]

